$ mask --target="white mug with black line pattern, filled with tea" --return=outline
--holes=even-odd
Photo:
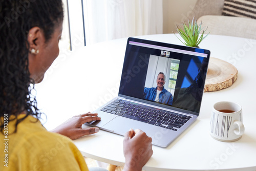
[[[215,103],[210,118],[210,135],[219,141],[233,142],[243,134],[242,106],[229,101]]]

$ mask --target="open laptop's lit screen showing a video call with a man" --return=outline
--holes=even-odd
[[[210,52],[130,37],[119,96],[199,115]]]

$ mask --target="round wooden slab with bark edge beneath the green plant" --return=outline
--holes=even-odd
[[[238,78],[238,70],[224,60],[210,57],[204,92],[212,92],[230,87]]]

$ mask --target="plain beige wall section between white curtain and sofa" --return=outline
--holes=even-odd
[[[177,24],[193,18],[197,0],[163,0],[163,33],[173,33]]]

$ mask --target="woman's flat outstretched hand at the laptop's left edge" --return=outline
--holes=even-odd
[[[91,122],[93,120],[100,120],[98,114],[95,113],[86,113],[78,116],[73,116],[72,118],[68,119],[58,127],[56,127],[51,132],[59,133],[65,135],[72,140],[80,138],[84,135],[94,134],[99,132],[97,127],[89,127],[87,129],[82,129],[82,124],[86,122]]]

